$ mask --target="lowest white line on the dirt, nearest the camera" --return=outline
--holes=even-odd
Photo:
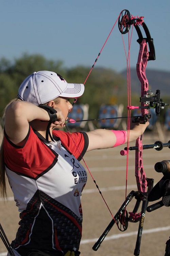
[[[142,233],[150,234],[150,233],[157,233],[157,232],[162,232],[162,231],[167,231],[167,230],[170,230],[170,226],[146,229],[146,230],[143,230]],[[123,233],[123,234],[120,233],[120,234],[115,234],[112,236],[107,236],[107,237],[105,237],[104,241],[115,240],[115,239],[124,238],[124,237],[132,237],[132,236],[136,236],[136,235],[137,235],[137,231],[127,232],[127,233]],[[97,240],[98,240],[98,238],[83,239],[81,241],[81,245],[88,244],[88,243],[95,243]],[[7,254],[7,252],[3,252],[3,253],[0,253],[0,256],[6,256],[6,254]]]

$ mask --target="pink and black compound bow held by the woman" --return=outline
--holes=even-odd
[[[143,38],[143,35],[141,33],[141,30],[139,26],[144,29],[146,37]],[[141,109],[141,116],[138,116],[134,119],[133,122],[137,122],[140,124],[145,124],[149,118],[151,118],[151,115],[149,114],[149,108],[155,108],[156,115],[160,114],[160,109],[163,109],[165,104],[162,99],[160,99],[160,90],[156,91],[156,94],[154,96],[153,93],[149,90],[148,80],[146,77],[146,67],[147,62],[149,60],[155,60],[155,50],[154,50],[154,44],[153,39],[151,38],[150,32],[146,26],[146,24],[143,22],[143,17],[137,17],[131,16],[130,12],[128,10],[123,10],[120,13],[119,19],[118,19],[118,27],[122,34],[126,34],[130,31],[131,26],[134,26],[139,39],[137,42],[140,45],[139,49],[139,55],[138,55],[138,61],[137,61],[137,75],[141,82],[141,97],[140,102],[141,106],[131,106],[128,105],[128,111],[131,111],[132,109]],[[149,50],[148,51],[148,46]],[[129,54],[128,54],[129,55]],[[156,144],[156,142],[155,142]],[[149,145],[148,145],[149,146]],[[158,146],[157,150],[160,150],[162,146]],[[149,147],[148,147],[149,148]],[[113,227],[115,224],[115,220],[117,223],[117,226],[121,231],[125,231],[128,228],[128,223],[136,223],[139,222],[139,228],[138,228],[138,234],[137,234],[137,240],[136,240],[136,247],[134,250],[134,255],[139,255],[140,253],[140,243],[141,243],[141,237],[142,237],[142,230],[143,230],[143,223],[145,220],[145,212],[148,206],[148,195],[153,188],[153,179],[148,179],[146,177],[144,168],[143,168],[143,161],[142,161],[142,151],[143,151],[143,145],[142,145],[142,135],[136,140],[136,146],[131,147],[131,150],[135,150],[135,176],[137,181],[137,188],[138,191],[131,191],[131,193],[126,196],[125,201],[121,205],[120,209],[114,216],[114,219],[109,223],[103,234],[100,236],[98,241],[95,243],[95,245],[92,247],[94,251],[97,251],[100,244],[106,237],[109,230]],[[128,154],[129,146],[127,146],[124,151],[121,151],[121,155]],[[147,189],[148,187],[148,189]],[[134,207],[133,212],[126,211],[126,206],[129,204],[129,202],[132,200],[132,198],[135,197],[136,204]],[[142,207],[140,213],[137,213],[138,208],[140,206],[140,203],[142,202]],[[160,206],[159,206],[160,207]],[[154,209],[155,210],[155,209]]]

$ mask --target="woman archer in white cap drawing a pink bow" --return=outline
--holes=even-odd
[[[88,151],[127,142],[127,131],[70,134],[56,130],[68,119],[69,98],[83,93],[83,84],[68,84],[55,72],[38,71],[22,82],[18,98],[5,109],[0,185],[5,197],[6,175],[20,212],[11,243],[16,255],[80,254],[81,194],[87,173],[79,161]],[[135,124],[129,141],[136,140],[148,125]]]

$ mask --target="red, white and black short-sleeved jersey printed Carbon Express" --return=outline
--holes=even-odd
[[[12,247],[21,255],[29,249],[55,255],[79,250],[81,193],[87,181],[79,160],[87,150],[88,137],[81,132],[71,136],[54,130],[54,141],[47,142],[30,127],[23,146],[4,136],[6,173],[21,212]]]

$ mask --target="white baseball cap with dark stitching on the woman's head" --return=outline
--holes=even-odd
[[[18,89],[18,98],[35,105],[57,97],[78,98],[84,93],[84,84],[68,84],[52,71],[38,71],[29,75]]]

